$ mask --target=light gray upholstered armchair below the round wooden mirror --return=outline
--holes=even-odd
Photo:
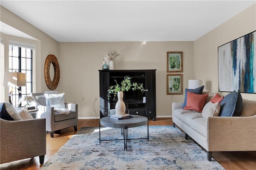
[[[46,106],[46,98],[44,93],[31,93],[38,109],[37,117],[46,119],[46,131],[50,132],[50,136],[54,137],[54,131],[74,127],[77,130],[78,105],[65,103],[66,109],[70,110],[68,114],[59,114],[54,112],[55,108]]]

